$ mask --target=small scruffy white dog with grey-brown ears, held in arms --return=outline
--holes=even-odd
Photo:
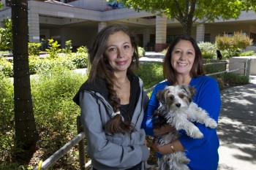
[[[203,138],[203,134],[192,122],[203,123],[209,128],[217,128],[217,122],[192,101],[195,93],[195,88],[190,85],[167,86],[157,93],[160,105],[153,115],[154,128],[160,128],[165,123],[175,128],[174,131],[157,137],[159,145],[168,144],[178,139],[180,136],[178,131],[181,129],[184,129],[192,138]],[[187,163],[189,163],[189,158],[184,152],[175,152],[162,156],[159,170],[189,169]]]

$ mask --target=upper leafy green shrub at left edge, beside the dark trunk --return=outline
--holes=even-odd
[[[4,27],[0,28],[0,50],[12,50],[12,20],[4,19]]]

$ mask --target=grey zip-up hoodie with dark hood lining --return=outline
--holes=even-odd
[[[97,80],[94,84],[93,87],[86,83],[82,85],[74,98],[80,105],[81,122],[86,133],[86,150],[92,166],[98,170],[129,169],[146,161],[150,153],[144,145],[145,131],[140,128],[144,114],[143,98],[146,95],[143,93],[143,82],[140,80],[140,95],[131,120],[135,131],[131,134],[108,134],[105,131],[105,125],[113,118],[114,111],[108,102],[105,83]]]

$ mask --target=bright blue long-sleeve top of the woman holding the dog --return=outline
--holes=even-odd
[[[170,82],[159,82],[151,94],[142,124],[147,135],[154,136],[151,117],[154,111],[159,107],[159,101],[156,96],[157,93],[163,90],[167,85],[170,85]],[[217,81],[207,76],[192,77],[189,85],[194,87],[197,91],[193,101],[198,107],[205,109],[208,115],[218,122],[221,98]],[[204,137],[202,139],[192,139],[190,136],[187,136],[184,131],[180,131],[182,135],[179,137],[179,141],[185,148],[187,158],[190,159],[188,164],[189,169],[216,170],[219,162],[219,139],[217,129],[206,128],[205,125],[200,123],[195,123],[195,125],[197,125],[197,128],[203,133]]]

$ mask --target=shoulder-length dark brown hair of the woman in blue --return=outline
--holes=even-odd
[[[167,53],[165,55],[164,63],[163,63],[163,74],[165,79],[167,79],[171,85],[176,84],[177,77],[176,73],[173,69],[172,64],[170,63],[170,60],[172,58],[172,52],[174,47],[180,42],[181,40],[187,40],[192,43],[192,46],[195,49],[195,61],[193,63],[192,69],[190,70],[190,76],[191,77],[199,77],[204,74],[203,72],[203,57],[202,53],[200,51],[200,48],[197,45],[197,42],[195,42],[195,39],[193,39],[191,36],[178,36],[173,43],[169,46]]]

